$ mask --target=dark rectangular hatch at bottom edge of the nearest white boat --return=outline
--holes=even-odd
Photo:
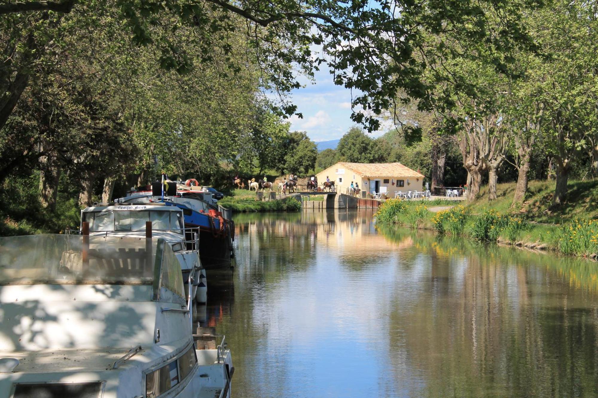
[[[102,391],[102,382],[93,383],[23,383],[17,384],[14,389],[14,398],[34,397],[77,397],[97,398]]]

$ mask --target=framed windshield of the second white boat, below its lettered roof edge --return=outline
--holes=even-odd
[[[144,206],[145,207],[145,206]],[[182,234],[181,212],[164,210],[104,210],[83,212],[83,221],[89,222],[89,230],[97,231],[143,231],[145,222],[151,221],[152,229]]]

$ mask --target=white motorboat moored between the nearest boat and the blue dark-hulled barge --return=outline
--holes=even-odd
[[[81,231],[85,222],[91,236],[146,237],[149,232],[151,237],[163,238],[179,260],[185,283],[191,269],[195,270],[193,297],[199,303],[206,302],[208,286],[199,257],[199,234],[185,229],[184,216],[178,207],[163,203],[93,206],[81,210]]]

